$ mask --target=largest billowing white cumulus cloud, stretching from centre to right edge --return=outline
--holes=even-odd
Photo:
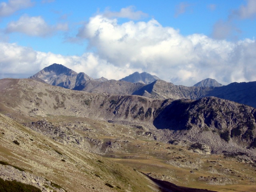
[[[78,36],[96,49],[99,58],[116,67],[129,66],[134,71],[154,73],[176,84],[188,85],[208,77],[223,84],[235,79],[256,80],[246,70],[247,65],[256,65],[255,61],[247,63],[245,59],[252,61],[255,57],[252,52],[242,59],[244,63],[238,62],[236,56],[245,51],[245,44],[254,50],[254,40],[232,43],[200,34],[185,37],[171,27],[161,26],[154,19],[118,24],[116,19],[102,15],[91,17]],[[246,50],[249,53],[249,49]],[[236,75],[241,69],[244,73]]]

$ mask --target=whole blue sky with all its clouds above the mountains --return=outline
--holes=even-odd
[[[256,81],[256,0],[0,0],[0,79],[53,63],[96,79]]]

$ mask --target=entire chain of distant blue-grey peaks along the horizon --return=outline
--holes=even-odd
[[[143,74],[134,73],[127,78],[131,78],[135,82],[140,81],[141,78],[148,80],[145,77],[154,78],[148,73]],[[214,79],[205,79],[192,87],[174,85],[159,79],[150,84],[132,83],[125,80],[107,80],[103,77],[93,79],[85,73],[76,73],[60,64],[52,64],[29,79],[90,93],[140,95],[152,99],[200,99],[205,96],[215,96],[256,108],[256,81],[248,83],[234,82],[221,86]]]

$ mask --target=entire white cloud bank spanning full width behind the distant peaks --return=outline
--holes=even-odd
[[[222,84],[256,81],[256,41],[251,39],[230,42],[201,34],[183,36],[154,19],[119,24],[103,15],[91,17],[77,37],[87,41],[93,52],[63,56],[0,44],[1,77],[3,73],[32,76],[59,63],[93,78],[121,79],[145,71],[187,86],[206,78]]]

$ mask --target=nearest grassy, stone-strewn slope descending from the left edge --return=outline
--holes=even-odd
[[[86,148],[51,140],[2,114],[0,131],[1,164],[11,164],[0,165],[0,177],[5,180],[30,184],[43,192],[146,192],[157,188],[131,167],[99,157]]]

